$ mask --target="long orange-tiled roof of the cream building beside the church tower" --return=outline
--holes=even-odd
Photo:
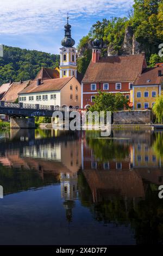
[[[23,89],[18,94],[26,94],[26,93],[39,93],[39,92],[51,92],[53,90],[60,90],[65,86],[67,82],[72,79],[71,77],[64,78],[55,78],[55,79],[47,79],[45,81],[41,81],[41,84],[37,86],[37,81],[34,80],[28,87]]]

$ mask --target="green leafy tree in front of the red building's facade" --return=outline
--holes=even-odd
[[[128,100],[121,93],[105,93],[99,91],[93,100],[94,105],[90,107],[90,111],[120,111],[128,107]]]

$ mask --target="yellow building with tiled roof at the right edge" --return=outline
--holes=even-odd
[[[161,95],[163,68],[147,68],[137,76],[132,90],[133,109],[152,108],[157,96]]]

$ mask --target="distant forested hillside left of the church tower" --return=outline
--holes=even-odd
[[[42,66],[59,66],[59,55],[4,46],[4,57],[0,57],[0,85],[10,80],[18,82],[34,78]]]

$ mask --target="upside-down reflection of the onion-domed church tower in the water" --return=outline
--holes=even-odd
[[[68,222],[72,221],[72,209],[75,205],[74,200],[77,198],[77,173],[61,173],[61,198],[65,200],[64,208],[66,210],[66,218]]]

